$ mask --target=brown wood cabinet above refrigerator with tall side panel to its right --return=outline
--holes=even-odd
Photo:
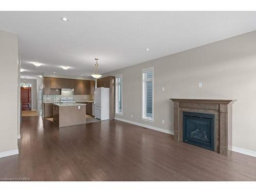
[[[97,88],[110,88],[110,119],[115,119],[115,77],[97,79]]]

